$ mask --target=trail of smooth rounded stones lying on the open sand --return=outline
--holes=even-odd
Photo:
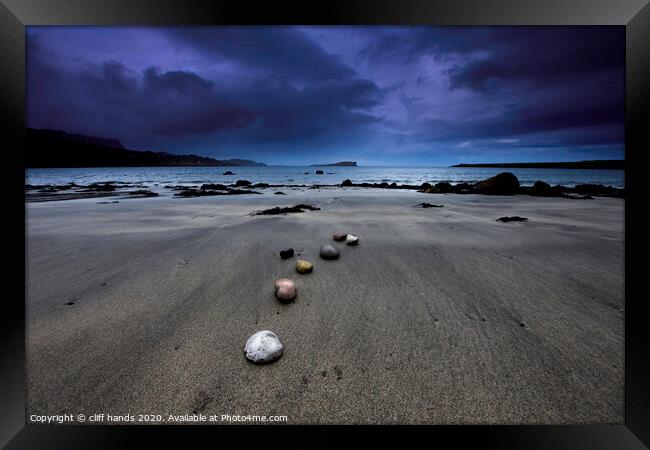
[[[337,242],[343,242],[347,245],[359,245],[359,237],[354,234],[335,234],[332,236]],[[280,258],[289,259],[295,254],[293,248],[286,248],[280,251]],[[300,253],[299,253],[300,254]],[[339,250],[332,244],[325,244],[320,248],[320,257],[326,260],[335,260],[340,256]],[[296,261],[296,272],[301,275],[311,273],[314,265],[304,259]],[[296,283],[289,278],[280,278],[274,283],[275,297],[282,303],[291,303],[298,296]],[[256,364],[266,364],[280,359],[284,352],[284,346],[280,338],[272,331],[262,330],[253,334],[246,341],[244,354],[246,359]]]

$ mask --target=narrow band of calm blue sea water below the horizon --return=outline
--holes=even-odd
[[[316,175],[317,169],[325,172]],[[222,175],[230,170],[235,175]],[[269,184],[339,184],[346,178],[354,183],[396,182],[421,184],[448,181],[452,184],[484,180],[499,172],[514,173],[523,186],[537,180],[549,184],[575,186],[597,183],[617,188],[625,187],[622,170],[576,169],[502,169],[460,167],[116,167],[84,169],[28,169],[27,184],[89,184],[102,181],[122,181],[143,184],[234,183],[246,179],[253,183]],[[305,173],[308,172],[308,173]]]

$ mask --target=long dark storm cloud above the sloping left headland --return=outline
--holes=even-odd
[[[260,42],[259,37],[240,34],[247,37],[246,42]],[[197,39],[201,35],[191,36]],[[216,37],[224,38],[220,33]],[[228,37],[242,44],[232,35]],[[281,45],[283,39],[267,41],[264,52]],[[302,53],[311,48],[313,45],[306,43],[298,46]],[[208,50],[215,51],[212,46]],[[316,53],[330,61],[322,51]],[[113,134],[140,146],[146,145],[150,135],[178,137],[244,128],[246,133],[240,139],[245,141],[313,138],[333,129],[371,123],[372,116],[359,110],[372,107],[381,98],[373,82],[331,61],[329,66],[325,64],[325,72],[318,68],[300,72],[301,85],[296,86],[289,78],[292,59],[285,56],[285,63],[279,66],[283,71],[233,88],[189,71],[149,67],[137,72],[116,61],[66,73],[41,56],[36,38],[29,55],[30,126]],[[241,61],[250,63],[251,57],[242,56]],[[264,58],[255,63],[277,68]],[[310,81],[305,83],[307,76]]]

